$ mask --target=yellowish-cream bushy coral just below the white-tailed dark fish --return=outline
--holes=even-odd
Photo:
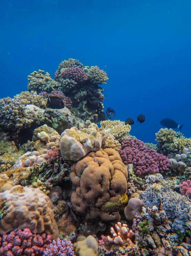
[[[177,133],[171,128],[161,128],[155,135],[155,141],[159,143],[173,143],[173,140],[177,137]]]

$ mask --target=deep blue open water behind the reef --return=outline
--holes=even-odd
[[[107,72],[105,109],[133,118],[132,135],[154,143],[169,117],[191,137],[190,10],[190,0],[0,0],[0,98],[74,58]]]

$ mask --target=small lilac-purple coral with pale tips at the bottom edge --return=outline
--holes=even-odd
[[[43,256],[73,256],[73,244],[71,241],[68,241],[66,238],[61,240],[58,238],[56,241],[53,240],[52,244],[44,250]]]

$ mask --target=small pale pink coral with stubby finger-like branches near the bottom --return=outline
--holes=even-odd
[[[123,246],[124,244],[131,244],[131,239],[134,237],[134,233],[131,229],[127,227],[127,224],[121,224],[121,222],[118,222],[115,224],[115,229],[111,227],[111,235],[112,238],[108,236],[108,241],[115,245]]]

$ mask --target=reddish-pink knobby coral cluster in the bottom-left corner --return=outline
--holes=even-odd
[[[51,235],[36,235],[29,228],[0,237],[1,256],[41,256],[51,244]]]

